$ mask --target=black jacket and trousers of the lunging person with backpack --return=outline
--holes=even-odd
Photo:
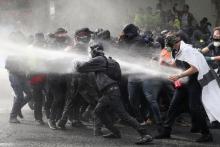
[[[118,83],[112,80],[106,74],[106,64],[107,60],[104,55],[99,55],[90,61],[83,64],[78,64],[77,66],[78,72],[95,72],[96,84],[98,90],[102,94],[102,97],[99,99],[98,104],[96,105],[95,114],[99,117],[102,123],[118,137],[120,137],[120,132],[114,127],[112,118],[108,113],[109,109],[115,111],[121,120],[127,122],[130,126],[135,128],[141,136],[146,135],[145,129],[143,129],[140,124],[124,109],[120,99],[121,94]]]

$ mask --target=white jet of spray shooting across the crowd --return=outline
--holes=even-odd
[[[155,61],[150,61],[146,57],[140,55],[128,55],[123,51],[115,51],[110,49],[107,55],[115,58],[121,65],[124,74],[142,74],[143,76],[152,75],[167,78],[169,75],[179,73],[179,69],[160,66]],[[37,47],[28,47],[27,45],[19,45],[9,41],[3,41],[0,44],[0,56],[16,56],[23,63],[26,71],[30,73],[58,73],[68,74],[75,71],[74,64],[76,62],[88,61],[85,54],[79,52],[64,52],[41,49]]]

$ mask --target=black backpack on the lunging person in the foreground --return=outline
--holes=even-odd
[[[106,59],[106,73],[107,75],[114,81],[120,82],[121,81],[121,67],[119,63],[112,59],[112,57],[105,57]]]

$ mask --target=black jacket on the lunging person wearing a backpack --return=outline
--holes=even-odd
[[[88,62],[80,63],[77,65],[76,70],[81,73],[95,72],[96,84],[99,91],[103,91],[108,86],[117,84],[107,74],[106,69],[107,60],[104,56],[97,56]]]

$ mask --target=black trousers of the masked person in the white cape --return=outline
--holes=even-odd
[[[182,113],[183,103],[188,98],[189,111],[194,125],[201,130],[202,134],[209,133],[206,123],[206,114],[201,101],[202,88],[194,80],[177,89],[174,93],[171,105],[168,111],[164,127],[170,133],[175,119]]]

